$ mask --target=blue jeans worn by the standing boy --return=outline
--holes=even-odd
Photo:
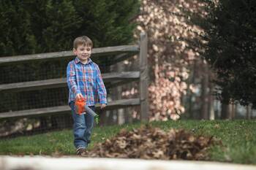
[[[75,147],[86,148],[91,142],[91,131],[94,127],[94,117],[90,114],[78,115],[75,112],[75,102],[71,101],[69,107],[72,110],[72,117],[74,120],[73,133]],[[90,106],[92,110],[95,110],[94,106]]]

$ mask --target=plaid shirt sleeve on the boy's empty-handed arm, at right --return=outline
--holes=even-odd
[[[98,90],[98,96],[99,96],[99,103],[107,104],[108,103],[107,90],[102,80],[102,74],[100,73],[99,66],[96,65],[96,69],[97,69],[96,83],[97,83],[97,90]]]

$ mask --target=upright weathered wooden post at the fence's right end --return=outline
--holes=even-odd
[[[140,120],[148,120],[148,36],[140,34]]]

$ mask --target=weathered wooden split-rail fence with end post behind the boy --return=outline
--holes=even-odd
[[[111,63],[115,64],[129,58],[129,54],[138,53],[140,55],[140,70],[134,72],[110,72],[102,74],[104,82],[110,82],[111,86],[123,85],[124,83],[139,80],[140,81],[140,97],[121,99],[108,102],[105,110],[119,109],[124,107],[132,107],[140,105],[140,120],[148,120],[148,65],[147,65],[147,35],[140,34],[139,45],[123,45],[115,47],[100,47],[92,50],[92,58],[98,56],[104,58],[107,55],[114,55]],[[18,55],[11,57],[1,57],[0,66],[10,63],[47,61],[53,59],[74,58],[72,51],[62,51],[56,53],[41,53],[34,55]],[[25,90],[42,90],[45,88],[61,88],[67,87],[66,78],[37,80],[29,82],[17,82],[0,85],[0,92],[17,92]],[[99,105],[96,106],[99,108]],[[39,109],[26,109],[13,112],[0,112],[0,119],[11,117],[37,117],[42,115],[56,115],[70,113],[69,106],[46,107]]]

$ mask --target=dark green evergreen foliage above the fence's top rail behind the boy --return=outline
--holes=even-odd
[[[0,56],[71,50],[81,35],[91,37],[94,47],[127,44],[138,7],[138,0],[3,0]]]

